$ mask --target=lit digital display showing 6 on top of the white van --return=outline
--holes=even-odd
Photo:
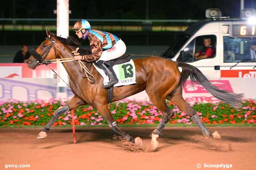
[[[232,25],[232,37],[256,37],[256,25]]]

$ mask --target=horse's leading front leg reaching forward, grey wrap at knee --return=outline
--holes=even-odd
[[[45,139],[47,137],[46,132],[48,132],[52,128],[52,125],[54,124],[56,119],[58,119],[59,116],[68,112],[69,110],[72,110],[72,109],[82,106],[84,104],[85,104],[85,102],[83,102],[81,99],[79,99],[76,95],[74,97],[72,97],[72,99],[69,102],[67,102],[67,104],[65,106],[59,107],[54,112],[50,121],[45,125],[44,129],[37,135],[37,139]]]

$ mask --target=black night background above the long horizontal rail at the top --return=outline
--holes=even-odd
[[[1,18],[56,18],[56,0],[9,0],[1,4]],[[8,3],[9,2],[9,3]],[[149,0],[149,19],[204,19],[207,8],[221,9],[223,16],[239,17],[240,0]],[[256,9],[256,0],[245,0]],[[146,0],[69,0],[70,18],[145,19]]]

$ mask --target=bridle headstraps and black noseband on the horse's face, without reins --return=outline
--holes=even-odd
[[[30,54],[33,55],[37,59],[38,64],[50,64],[51,63],[50,60],[45,60],[45,58],[47,57],[48,53],[50,52],[52,46],[53,46],[53,49],[54,49],[55,58],[57,58],[56,48],[55,48],[55,45],[54,45],[55,41],[52,40],[52,38],[45,38],[45,39],[50,40],[51,44],[50,44],[50,46],[48,46],[48,48],[41,55],[39,53],[37,53],[35,51],[35,49],[30,50]]]

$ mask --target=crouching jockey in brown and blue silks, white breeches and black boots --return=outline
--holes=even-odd
[[[105,61],[121,57],[126,51],[124,42],[111,33],[91,29],[89,22],[84,19],[78,20],[74,24],[73,29],[78,38],[89,39],[92,52],[92,54],[84,56],[75,53],[74,58],[76,60],[96,62],[109,78],[109,83],[104,83],[103,88],[109,88],[116,84],[119,80],[117,79],[113,68],[106,64]]]

